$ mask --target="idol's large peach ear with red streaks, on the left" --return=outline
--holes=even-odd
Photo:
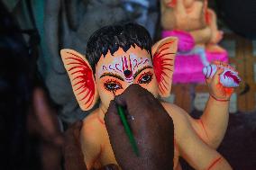
[[[98,98],[92,68],[87,59],[75,50],[61,49],[60,55],[80,108],[83,111],[90,110]]]

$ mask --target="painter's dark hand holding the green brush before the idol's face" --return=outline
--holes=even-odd
[[[126,110],[139,157],[125,134],[116,104]],[[105,114],[105,126],[114,157],[123,170],[165,170],[173,168],[174,129],[161,103],[140,85],[130,85],[114,98]]]

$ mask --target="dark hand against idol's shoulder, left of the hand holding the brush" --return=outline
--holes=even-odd
[[[65,159],[65,170],[87,170],[79,138],[82,124],[82,121],[75,122],[64,134],[65,142],[62,151]],[[118,167],[107,165],[97,170],[118,170]]]

